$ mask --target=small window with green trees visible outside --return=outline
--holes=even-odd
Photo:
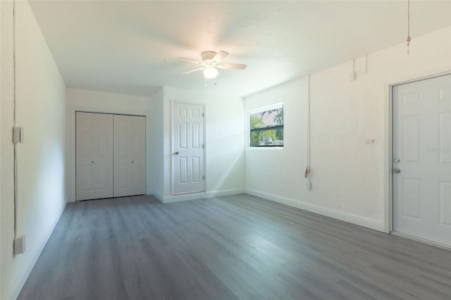
[[[249,111],[249,146],[283,146],[283,104]]]

